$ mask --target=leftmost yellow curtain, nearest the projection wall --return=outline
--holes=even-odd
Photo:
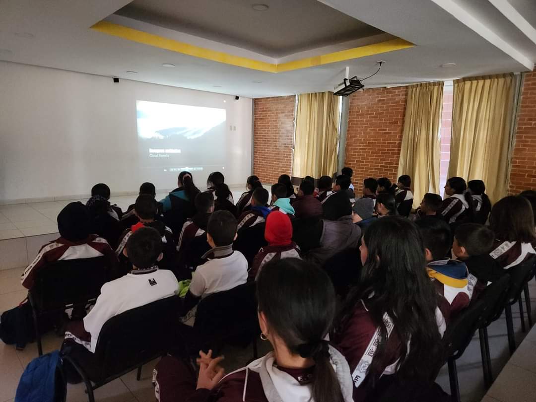
[[[319,178],[337,170],[339,97],[333,92],[298,96],[292,175]]]

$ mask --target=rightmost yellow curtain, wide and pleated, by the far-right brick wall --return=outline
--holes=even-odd
[[[492,203],[508,193],[515,86],[513,74],[454,81],[448,176],[483,180]]]

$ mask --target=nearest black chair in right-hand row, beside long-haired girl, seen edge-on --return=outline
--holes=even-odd
[[[443,336],[446,361],[449,366],[450,395],[457,402],[460,401],[460,388],[456,360],[463,355],[465,349],[471,343],[485,310],[485,301],[477,300],[472,302],[450,323]]]

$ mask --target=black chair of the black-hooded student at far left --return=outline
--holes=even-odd
[[[42,267],[28,291],[32,306],[35,339],[43,354],[40,321],[44,316],[63,313],[69,308],[84,308],[99,295],[108,281],[110,267],[106,257],[59,260]]]

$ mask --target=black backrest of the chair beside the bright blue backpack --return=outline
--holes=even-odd
[[[177,339],[180,303],[180,297],[171,296],[110,318],[102,326],[95,347],[102,377],[166,353]]]

